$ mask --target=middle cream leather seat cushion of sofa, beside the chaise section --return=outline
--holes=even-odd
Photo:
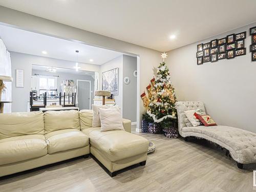
[[[76,129],[58,130],[45,135],[48,153],[54,154],[89,145],[89,137]]]

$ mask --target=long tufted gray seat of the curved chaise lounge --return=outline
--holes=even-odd
[[[181,136],[197,136],[215,142],[227,148],[232,158],[239,163],[256,162],[256,133],[217,125],[183,127]]]

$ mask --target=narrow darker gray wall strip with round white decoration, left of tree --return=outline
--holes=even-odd
[[[137,58],[123,55],[123,78],[129,77],[129,84],[123,83],[123,118],[136,122],[137,77],[133,72],[137,70]]]

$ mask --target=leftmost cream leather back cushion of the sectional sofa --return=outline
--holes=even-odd
[[[44,132],[42,112],[0,114],[0,139],[32,134],[44,135]]]

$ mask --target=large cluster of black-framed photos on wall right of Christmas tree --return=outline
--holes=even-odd
[[[253,28],[253,30],[256,42],[256,27],[255,29]],[[197,65],[202,65],[205,62],[216,62],[221,59],[231,59],[236,56],[245,55],[245,38],[246,31],[237,34],[230,34],[220,39],[211,40],[206,44],[197,45]],[[251,45],[251,50],[255,50],[254,54],[256,57],[256,43]]]

